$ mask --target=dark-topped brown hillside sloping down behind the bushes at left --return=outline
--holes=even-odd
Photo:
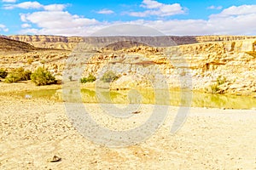
[[[17,67],[34,70],[39,65],[65,63],[70,51],[61,49],[35,48],[29,43],[0,37],[0,68],[11,71]],[[61,70],[59,71],[61,72]]]

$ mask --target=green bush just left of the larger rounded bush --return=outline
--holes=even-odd
[[[5,77],[5,82],[12,83],[12,82],[20,82],[20,81],[27,81],[30,80],[32,72],[25,71],[24,68],[20,67],[11,71],[7,77]]]

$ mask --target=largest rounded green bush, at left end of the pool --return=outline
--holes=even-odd
[[[31,75],[32,82],[35,82],[37,86],[44,86],[49,84],[55,84],[55,77],[53,77],[49,71],[42,67],[38,67]]]

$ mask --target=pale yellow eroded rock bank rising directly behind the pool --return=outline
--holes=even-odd
[[[74,54],[67,74],[100,79],[107,71],[120,78],[112,88],[193,88],[210,93],[255,94],[256,39],[204,42],[169,48],[135,47]],[[73,68],[75,68],[73,70]],[[79,77],[75,77],[79,78]],[[216,85],[216,86],[215,86]]]

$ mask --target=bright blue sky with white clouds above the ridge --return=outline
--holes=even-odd
[[[256,35],[256,0],[0,0],[0,8],[7,36],[90,36],[125,25],[170,36]]]

